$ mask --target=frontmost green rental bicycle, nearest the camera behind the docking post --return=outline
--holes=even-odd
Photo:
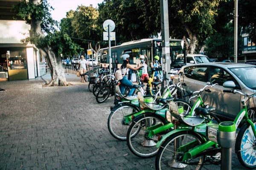
[[[223,87],[235,88],[233,81],[224,82]],[[240,94],[244,96],[241,100],[242,108],[236,116],[234,122],[229,122],[237,129],[240,122],[243,120],[243,125],[239,130],[236,138],[235,151],[240,163],[247,168],[256,167],[256,123],[253,123],[248,117],[247,107],[245,102],[247,97],[254,96],[253,94],[246,94],[236,90],[224,90],[224,92]],[[170,110],[177,110],[170,108]],[[212,115],[212,110],[198,108],[196,113],[198,115],[209,116]],[[179,122],[186,123],[189,117],[182,117],[175,112],[171,112],[172,117]],[[167,133],[157,143],[157,148],[160,148],[156,161],[155,168],[162,169],[196,169],[200,170],[204,162],[211,159],[220,159],[220,147],[217,142],[217,129],[219,125],[202,123],[200,125],[192,126],[186,129],[173,130]],[[221,126],[221,125],[220,125]],[[235,129],[234,129],[235,130]]]

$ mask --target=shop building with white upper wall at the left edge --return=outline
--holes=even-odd
[[[46,72],[38,48],[20,42],[29,36],[30,25],[12,19],[17,1],[0,0],[0,80],[35,79]]]

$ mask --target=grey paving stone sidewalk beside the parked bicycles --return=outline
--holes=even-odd
[[[108,132],[113,97],[98,104],[88,83],[66,77],[73,86],[42,88],[49,74],[0,82],[0,170],[153,170],[155,158],[134,156]],[[232,164],[244,169],[235,153]]]

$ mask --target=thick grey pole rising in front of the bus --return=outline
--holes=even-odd
[[[169,40],[169,17],[168,17],[168,0],[160,0],[161,9],[161,30],[162,30],[162,59],[163,59],[163,79],[166,85],[166,78],[171,70],[170,62],[170,40]]]

